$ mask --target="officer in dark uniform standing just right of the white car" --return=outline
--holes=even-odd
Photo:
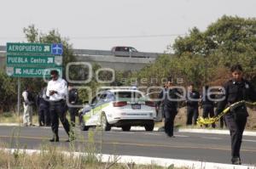
[[[173,83],[169,81],[166,82],[166,91],[162,93],[164,96],[160,95],[160,98],[164,98],[165,132],[170,138],[174,138],[173,126],[177,115],[177,93],[177,88],[174,88]]]

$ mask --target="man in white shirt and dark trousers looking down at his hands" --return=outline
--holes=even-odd
[[[73,139],[70,133],[70,125],[66,118],[66,97],[67,97],[67,82],[59,76],[57,70],[51,70],[50,76],[52,80],[48,82],[46,96],[49,97],[49,114],[51,117],[51,129],[54,134],[50,142],[59,142],[59,119],[69,136],[67,141]]]

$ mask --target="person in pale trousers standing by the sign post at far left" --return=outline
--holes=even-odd
[[[32,97],[32,88],[30,86],[26,87],[26,90],[22,93],[23,97],[23,125],[33,126],[32,125],[32,104],[33,104],[33,97]]]

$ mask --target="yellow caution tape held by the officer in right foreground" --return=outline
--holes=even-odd
[[[235,104],[231,104],[229,107],[227,107],[226,109],[224,109],[219,115],[217,115],[216,117],[210,117],[210,118],[203,118],[203,117],[198,117],[196,123],[197,125],[207,125],[207,124],[212,124],[216,121],[218,121],[223,115],[227,114],[230,111],[230,108],[232,107],[237,107],[238,105],[240,106],[241,104],[249,104],[249,105],[256,105],[256,102],[252,103],[252,102],[247,102],[245,100],[241,100],[239,102],[236,102]]]

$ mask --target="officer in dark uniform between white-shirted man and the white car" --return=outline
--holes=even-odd
[[[73,88],[73,86],[70,84],[68,86],[68,111],[70,114],[70,121],[71,125],[74,127],[75,126],[75,121],[76,121],[76,114],[78,112],[78,109],[74,107],[75,104],[78,103],[79,100],[79,93],[76,88]]]

